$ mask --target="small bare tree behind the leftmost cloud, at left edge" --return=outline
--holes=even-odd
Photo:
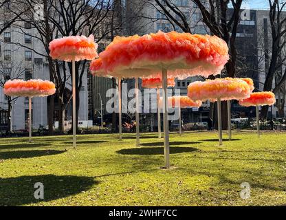
[[[12,62],[0,62],[0,87],[4,88],[5,83],[8,80],[23,78],[25,74],[25,68],[22,63]],[[12,132],[12,107],[18,97],[5,96],[5,100],[8,102],[8,133]]]

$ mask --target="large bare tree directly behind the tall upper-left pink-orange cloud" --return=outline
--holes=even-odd
[[[22,21],[31,24],[32,30],[36,30],[32,38],[41,41],[45,47],[45,53],[30,48],[35,53],[47,58],[50,69],[50,80],[56,84],[56,98],[60,104],[59,129],[63,131],[65,109],[72,99],[72,89],[68,89],[71,80],[72,65],[62,61],[53,61],[49,56],[49,43],[61,36],[75,36],[94,34],[96,42],[111,38],[111,33],[119,30],[120,23],[116,21],[115,1],[105,0],[22,0],[30,8],[30,13],[21,17]],[[43,18],[34,19],[36,3],[43,4]],[[111,22],[112,21],[112,22]],[[25,28],[19,27],[19,32],[29,34]],[[17,42],[14,44],[21,45]],[[87,61],[76,62],[76,122],[78,122],[78,109],[80,104],[79,91],[83,87],[83,76],[87,73]],[[48,111],[49,130],[52,130],[54,114],[54,97],[50,97]],[[78,123],[76,123],[78,124]]]

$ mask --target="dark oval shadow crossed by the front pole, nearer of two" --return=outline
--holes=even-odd
[[[170,153],[187,153],[197,151],[197,148],[192,147],[174,147],[170,146]],[[116,151],[116,153],[126,155],[162,155],[164,154],[164,147],[138,147],[129,148]]]

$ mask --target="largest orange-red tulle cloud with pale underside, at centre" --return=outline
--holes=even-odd
[[[117,36],[104,52],[101,68],[118,77],[143,77],[168,70],[168,76],[220,74],[228,61],[228,45],[217,36],[157,32]]]

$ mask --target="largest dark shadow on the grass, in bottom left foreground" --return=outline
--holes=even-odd
[[[34,184],[44,187],[44,199],[35,199]],[[76,195],[98,184],[93,177],[38,175],[0,178],[0,206],[20,206],[41,201],[52,201]],[[39,194],[36,194],[39,195]]]

